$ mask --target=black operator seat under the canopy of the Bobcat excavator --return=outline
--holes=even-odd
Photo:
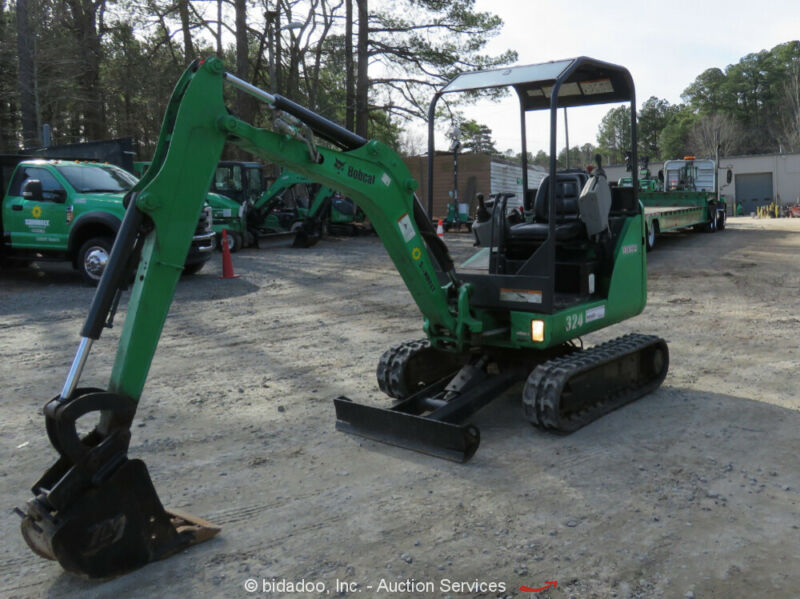
[[[581,178],[577,174],[556,175],[556,241],[567,241],[586,236],[586,228],[579,218],[578,196],[581,191]],[[526,241],[541,241],[549,231],[550,175],[542,179],[536,193],[533,214],[534,221],[521,223],[509,228],[506,241],[511,244]]]

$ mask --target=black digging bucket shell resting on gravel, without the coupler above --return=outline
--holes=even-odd
[[[99,486],[58,510],[45,495],[32,499],[22,535],[34,552],[85,578],[113,578],[206,541],[218,526],[158,499],[147,467],[126,460]]]

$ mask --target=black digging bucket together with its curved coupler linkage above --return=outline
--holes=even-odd
[[[74,436],[75,420],[89,411],[121,414],[122,398],[94,391],[45,407],[48,434],[61,457],[34,485],[26,509],[17,510],[28,546],[68,572],[104,579],[216,535],[218,526],[164,509],[144,462],[127,457],[127,426]]]

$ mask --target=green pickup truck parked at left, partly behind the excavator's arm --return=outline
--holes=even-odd
[[[69,260],[96,285],[137,179],[111,164],[0,157],[0,261]],[[184,272],[194,274],[215,246],[211,210],[199,215]]]

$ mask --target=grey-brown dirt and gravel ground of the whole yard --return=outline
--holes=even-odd
[[[664,385],[565,437],[513,390],[473,418],[462,465],[334,430],[331,399],[388,405],[377,360],[422,337],[377,238],[246,250],[236,280],[216,255],[179,285],[130,453],[165,505],[222,533],[101,583],[31,553],[11,512],[54,460],[40,410],[93,291],[63,265],[0,272],[0,596],[528,597],[555,580],[538,596],[797,597],[800,220],[664,235],[648,261],[644,313],[586,341],[664,337]],[[105,386],[118,335],[83,385]],[[270,594],[281,581],[324,590]]]

